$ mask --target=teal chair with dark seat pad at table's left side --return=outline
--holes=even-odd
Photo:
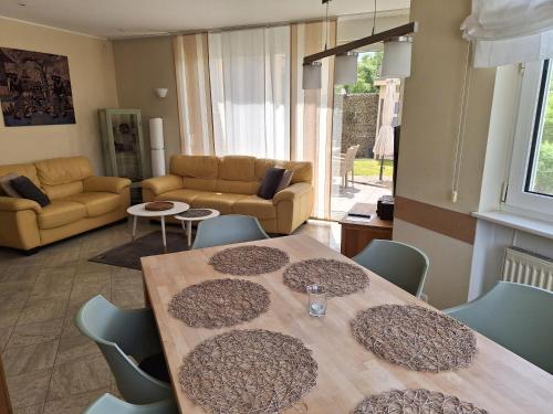
[[[97,295],[81,307],[75,323],[98,346],[126,401],[149,404],[173,397],[150,309],[119,309]]]

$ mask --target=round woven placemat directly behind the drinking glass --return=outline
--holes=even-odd
[[[330,258],[311,258],[290,265],[284,270],[284,284],[305,293],[317,284],[328,296],[344,296],[368,286],[368,276],[361,267]]]

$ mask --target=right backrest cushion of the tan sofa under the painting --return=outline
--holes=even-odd
[[[86,157],[52,158],[36,161],[36,173],[51,200],[83,192],[83,180],[94,176]]]

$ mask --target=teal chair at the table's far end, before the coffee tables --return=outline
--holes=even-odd
[[[258,219],[249,215],[219,215],[198,224],[192,248],[206,248],[269,238]]]

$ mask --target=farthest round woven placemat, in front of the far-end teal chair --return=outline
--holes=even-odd
[[[280,269],[290,262],[286,252],[267,246],[240,246],[216,253],[209,264],[217,272],[236,276],[254,276]]]

